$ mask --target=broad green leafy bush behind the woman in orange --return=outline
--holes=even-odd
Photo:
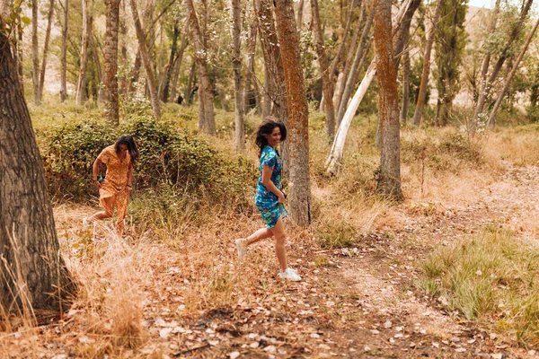
[[[189,193],[212,203],[250,203],[256,168],[242,156],[225,157],[206,140],[172,125],[135,115],[120,127],[89,121],[38,133],[49,191],[53,197],[87,200],[95,194],[92,166],[102,149],[121,134],[137,141],[140,153],[133,185],[140,192]],[[137,193],[137,192],[136,192]]]

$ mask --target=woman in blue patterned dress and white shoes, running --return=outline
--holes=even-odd
[[[279,277],[291,281],[300,281],[296,271],[287,264],[287,252],[285,250],[286,232],[283,218],[287,216],[285,209],[285,193],[281,186],[281,170],[283,162],[277,150],[281,141],[287,139],[287,127],[278,118],[268,117],[257,130],[255,143],[260,148],[261,177],[256,188],[254,198],[257,209],[261,212],[264,228],[252,233],[247,238],[235,241],[238,256],[243,258],[247,247],[257,241],[262,241],[271,236],[275,237],[275,253],[277,254],[280,267]]]

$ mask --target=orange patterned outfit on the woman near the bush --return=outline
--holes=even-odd
[[[107,165],[105,180],[99,189],[99,202],[110,213],[113,213],[116,206],[116,227],[119,232],[123,232],[126,215],[128,214],[129,195],[128,191],[126,191],[126,185],[128,184],[131,156],[126,152],[126,158],[120,160],[116,154],[114,145],[110,145],[102,150],[102,153],[99,154],[97,159]],[[104,201],[104,198],[109,197],[114,198],[111,206],[107,206],[107,203]]]

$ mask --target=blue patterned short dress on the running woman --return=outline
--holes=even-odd
[[[262,149],[261,162],[259,169],[261,171],[261,177],[258,180],[258,186],[256,187],[256,196],[254,197],[254,204],[257,209],[261,211],[262,221],[266,224],[266,228],[273,228],[278,221],[279,217],[286,218],[287,210],[285,206],[278,204],[278,197],[275,196],[264,184],[262,183],[262,169],[264,165],[268,165],[271,169],[271,178],[275,187],[281,188],[280,173],[283,168],[283,161],[281,160],[278,151],[270,146],[266,146]]]

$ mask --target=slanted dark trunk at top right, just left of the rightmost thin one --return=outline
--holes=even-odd
[[[522,24],[526,20],[527,13],[529,12],[530,7],[532,6],[533,2],[534,0],[526,0],[526,4],[524,5],[520,13],[520,19],[518,20],[517,24],[515,24],[515,27],[511,31],[511,35],[509,36],[509,39],[505,48],[503,48],[498,61],[494,65],[494,68],[492,68],[492,73],[490,73],[489,80],[485,84],[484,90],[480,92],[479,94],[479,99],[477,100],[477,106],[475,107],[475,111],[473,112],[473,118],[472,118],[472,123],[470,127],[470,136],[475,135],[475,130],[477,129],[477,119],[482,114],[485,101],[487,100],[490,90],[492,89],[492,84],[498,78],[498,74],[499,74],[499,71],[501,70],[501,66],[503,66],[505,60],[507,60],[507,58],[509,57],[510,55],[509,50],[511,46],[513,45],[513,42],[515,42],[515,39],[517,39],[518,33],[520,32],[520,29],[522,28]]]

